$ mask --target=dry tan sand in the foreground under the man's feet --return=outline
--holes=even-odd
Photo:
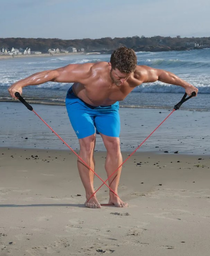
[[[103,179],[105,157],[95,152]],[[89,209],[71,151],[1,147],[0,255],[207,256],[209,166],[208,155],[136,152],[119,185],[129,207]],[[97,197],[108,202],[105,185]]]

